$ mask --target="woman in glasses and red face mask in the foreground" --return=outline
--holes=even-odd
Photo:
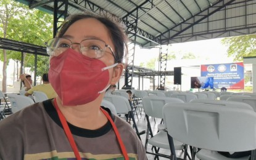
[[[101,107],[125,50],[125,34],[108,18],[69,18],[47,42],[57,97],[0,122],[0,159],[147,159],[132,127]]]

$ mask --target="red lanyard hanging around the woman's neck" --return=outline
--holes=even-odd
[[[75,144],[75,140],[72,136],[72,133],[70,132],[70,129],[68,127],[68,124],[67,124],[67,121],[64,117],[64,115],[62,114],[62,112],[60,111],[59,109],[59,106],[57,105],[57,100],[56,98],[54,99],[54,106],[56,108],[56,111],[58,113],[58,116],[60,118],[60,122],[64,128],[64,131],[65,131],[65,134],[67,135],[67,138],[68,138],[68,142],[70,143],[71,147],[72,147],[72,150],[75,154],[75,157],[76,157],[76,160],[81,160],[81,156],[78,152],[78,149],[77,149],[77,146]],[[107,119],[109,119],[113,129],[114,129],[114,132],[115,132],[115,135],[117,136],[117,140],[118,140],[118,143],[121,147],[121,150],[122,150],[122,153],[123,153],[123,156],[125,157],[125,160],[128,160],[128,154],[127,154],[127,151],[126,151],[126,148],[125,148],[125,145],[123,144],[123,141],[122,141],[122,138],[120,137],[120,134],[118,132],[118,129],[117,129],[117,126],[115,126],[115,123],[114,121],[112,120],[112,118],[109,116],[109,113],[107,113],[107,111],[103,110],[102,108],[100,108],[101,111],[105,114],[105,116],[107,117]]]

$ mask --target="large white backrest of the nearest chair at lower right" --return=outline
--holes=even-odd
[[[256,113],[222,105],[168,103],[163,107],[168,134],[197,148],[248,151],[256,148]]]

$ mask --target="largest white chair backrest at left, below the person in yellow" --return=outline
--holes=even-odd
[[[30,97],[26,97],[24,95],[8,94],[7,96],[10,104],[12,105],[12,113],[22,110],[23,108],[35,103]]]

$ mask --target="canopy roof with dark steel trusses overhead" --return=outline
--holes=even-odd
[[[53,0],[17,1],[54,11]],[[255,8],[256,0],[68,0],[67,10],[69,15],[109,12],[128,26],[131,41],[136,33],[135,42],[147,47],[254,34]]]

